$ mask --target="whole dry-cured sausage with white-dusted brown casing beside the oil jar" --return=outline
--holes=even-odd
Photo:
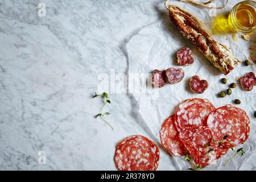
[[[190,40],[224,75],[228,75],[240,63],[240,60],[234,57],[226,46],[216,42],[209,35],[199,19],[179,6],[168,5],[168,1],[165,6],[169,10],[170,19],[181,34]]]

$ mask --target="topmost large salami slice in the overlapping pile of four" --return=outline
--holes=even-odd
[[[210,112],[215,107],[208,99],[191,98],[183,101],[175,114],[175,126],[181,131],[187,125],[206,125]]]

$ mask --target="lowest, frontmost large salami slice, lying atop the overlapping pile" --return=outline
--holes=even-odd
[[[206,126],[191,125],[185,127],[179,137],[193,161],[205,167],[217,159],[218,147],[213,143],[214,135],[214,131]]]

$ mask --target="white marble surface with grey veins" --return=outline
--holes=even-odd
[[[159,19],[156,6],[163,1],[0,2],[1,170],[115,170],[121,139],[142,134],[157,142],[133,96],[109,94],[114,131],[94,118],[102,100],[92,98],[100,73],[127,73],[125,45]],[[38,151],[46,152],[46,165],[38,164]],[[177,169],[160,152],[158,169]],[[248,161],[241,169],[256,166]]]

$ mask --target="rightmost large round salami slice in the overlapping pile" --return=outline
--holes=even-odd
[[[245,142],[250,133],[250,119],[245,111],[233,105],[219,107],[209,114],[207,126],[215,131],[222,148],[232,148]]]

